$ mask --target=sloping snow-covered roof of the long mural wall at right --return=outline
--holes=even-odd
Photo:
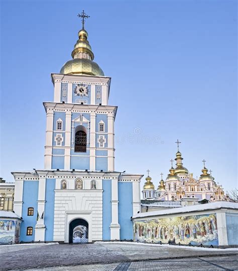
[[[185,207],[180,207],[180,208],[171,208],[171,209],[166,209],[166,210],[151,211],[147,213],[139,213],[139,214],[134,215],[133,218],[188,213],[188,212],[196,212],[196,211],[204,211],[204,210],[215,210],[215,209],[220,209],[220,208],[238,210],[238,203],[227,202],[227,201],[217,201],[217,202],[206,203],[206,204],[196,204],[196,205],[185,206]]]

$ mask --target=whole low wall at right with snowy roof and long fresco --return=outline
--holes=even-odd
[[[140,213],[132,219],[134,241],[238,246],[238,203],[186,206]]]

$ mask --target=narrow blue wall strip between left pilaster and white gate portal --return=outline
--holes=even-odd
[[[45,241],[53,241],[54,234],[54,208],[55,208],[55,179],[46,179],[45,203]]]

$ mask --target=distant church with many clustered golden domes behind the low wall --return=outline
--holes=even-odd
[[[146,178],[146,183],[143,187],[143,199],[157,200],[157,201],[180,201],[181,199],[191,198],[199,201],[225,201],[228,200],[228,195],[224,195],[223,188],[215,183],[214,177],[208,173],[205,167],[205,160],[203,160],[202,174],[199,179],[193,178],[193,174],[183,166],[182,154],[179,151],[179,142],[177,140],[178,151],[176,153],[176,167],[173,168],[174,160],[171,159],[171,168],[166,180],[163,180],[161,173],[161,181],[158,188],[155,189],[152,183],[152,178]]]

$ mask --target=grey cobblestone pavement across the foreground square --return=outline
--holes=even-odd
[[[199,268],[203,266],[203,270],[234,269],[237,266],[237,253],[237,250],[191,250],[130,243],[0,246],[0,270],[166,270],[178,269],[176,266],[181,269],[188,269],[188,266],[193,268],[195,264],[198,264]],[[225,257],[216,257],[218,255],[226,256],[226,260]],[[209,260],[211,259],[213,264],[207,262],[207,256],[210,256]]]

